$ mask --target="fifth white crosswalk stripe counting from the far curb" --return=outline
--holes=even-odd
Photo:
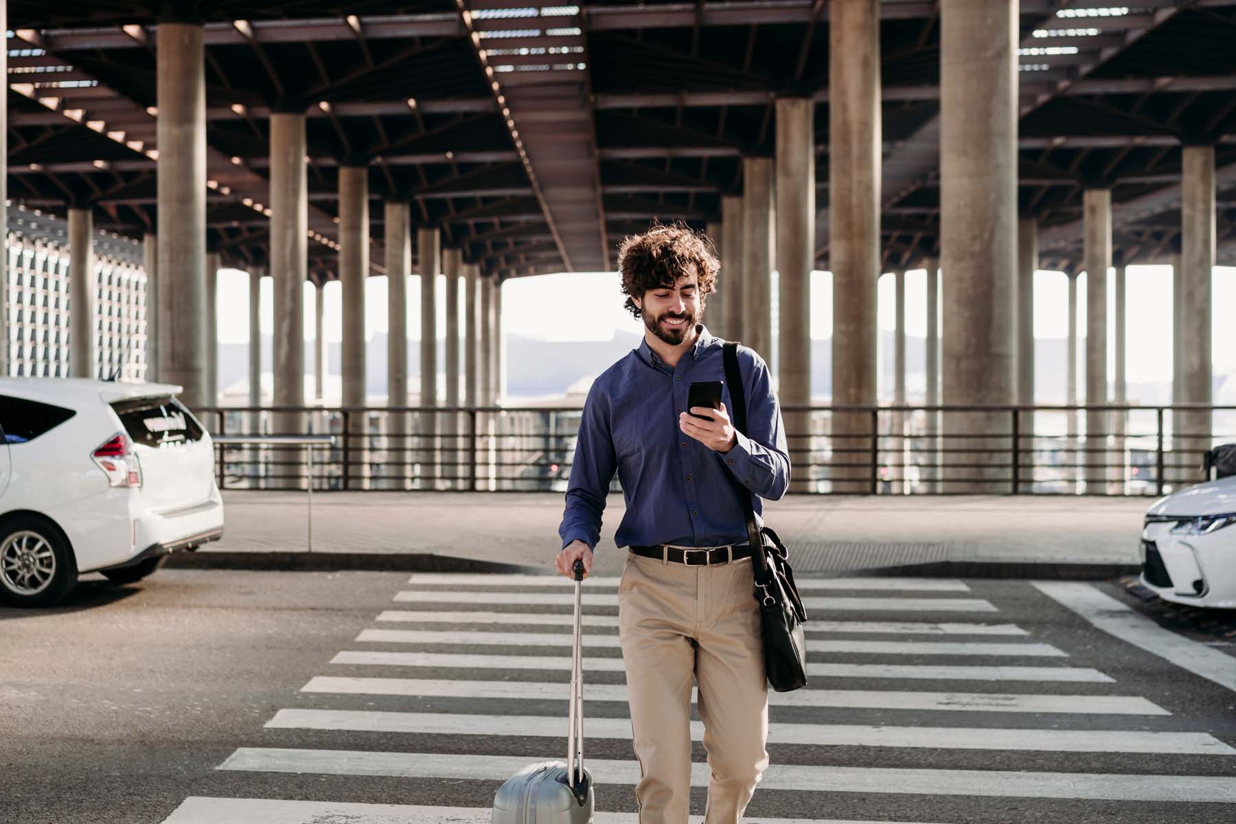
[[[811,647],[815,650],[815,645]],[[331,663],[393,667],[454,667],[459,670],[554,670],[570,672],[571,658],[540,655],[460,655],[454,652],[387,652],[345,650]],[[622,658],[583,658],[586,672],[624,672]],[[915,681],[1056,681],[1112,683],[1088,667],[994,667],[900,663],[807,662],[807,675],[818,678],[908,678]]]

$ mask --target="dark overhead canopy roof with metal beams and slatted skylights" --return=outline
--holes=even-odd
[[[161,12],[205,23],[208,243],[232,264],[267,257],[272,111],[308,114],[310,277],[335,277],[341,164],[368,164],[371,198],[410,200],[414,222],[517,277],[611,268],[654,219],[718,220],[742,156],[772,153],[775,96],[796,94],[818,101],[827,267],[827,2],[464,5],[9,0],[9,196],[96,206],[122,235],[157,226]],[[895,268],[938,253],[939,20],[932,1],[880,10]],[[1166,259],[1183,143],[1216,146],[1220,259],[1236,261],[1236,1],[1021,0],[1021,15],[1018,191],[1043,264],[1077,266],[1091,187],[1112,188],[1120,262]]]

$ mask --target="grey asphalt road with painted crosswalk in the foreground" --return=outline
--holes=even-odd
[[[504,768],[496,756],[523,763],[565,755],[555,730],[566,726],[569,649],[528,636],[569,640],[570,605],[515,602],[520,594],[561,599],[570,584],[480,581],[164,570],[131,587],[87,577],[54,610],[0,609],[0,822],[488,822],[485,810],[501,780],[477,776]],[[811,610],[810,660],[839,670],[774,702],[771,721],[781,738],[770,740],[774,767],[744,820],[1236,820],[1236,692],[1187,668],[1236,667],[1236,613],[1168,608],[1128,581],[1065,586],[1115,599],[1103,615],[1131,607],[1136,631],[1163,628],[1193,657],[1182,665],[1117,639],[1028,582],[967,581],[953,592],[813,592],[824,600]],[[603,582],[586,587],[601,600],[616,592]],[[420,594],[397,603],[400,592]],[[426,594],[444,592],[468,594],[459,603]],[[880,600],[869,602],[870,609],[842,600],[852,598]],[[923,599],[941,599],[941,608]],[[967,612],[983,603],[989,612]],[[386,610],[419,614],[378,620]],[[481,623],[444,612],[556,618]],[[598,620],[587,628],[597,637],[586,645],[586,658],[617,658],[618,649],[607,645],[616,639],[599,637],[617,633],[604,625],[617,608],[588,605],[586,613]],[[858,624],[866,621],[897,626]],[[985,629],[944,635],[939,623]],[[373,629],[446,635],[358,640]],[[496,633],[510,634],[512,642]],[[988,644],[1001,647],[971,646]],[[332,663],[341,651],[430,657]],[[562,663],[529,668],[528,660],[496,656],[556,656]],[[895,670],[864,668],[878,665]],[[976,666],[1004,670],[955,668]],[[1044,675],[1044,667],[1073,672],[1073,679]],[[304,691],[323,677],[344,681]],[[377,678],[393,681],[367,686]],[[460,681],[504,683],[513,692],[477,697],[471,688],[452,689]],[[593,734],[586,754],[597,775],[597,809],[634,813],[632,783],[606,781],[607,772],[620,776],[634,765],[629,731],[622,733],[627,707],[613,699],[623,683],[620,665],[587,673],[586,715],[614,738]],[[1060,696],[1067,698],[1053,698]],[[1043,699],[1054,704],[1036,703]],[[1117,712],[1096,712],[1110,699],[1125,702],[1117,700]],[[494,724],[506,717],[534,720],[493,734],[477,715],[499,717]],[[267,726],[272,720],[278,726]],[[533,729],[541,721],[545,734]],[[698,742],[695,755],[703,761]],[[297,759],[308,761],[288,766]],[[774,775],[786,765],[794,771]],[[703,787],[692,798],[692,812],[701,814]],[[224,812],[222,802],[209,799],[318,803],[260,809],[245,801]],[[398,807],[337,805],[349,803]],[[472,812],[455,817],[421,807]]]

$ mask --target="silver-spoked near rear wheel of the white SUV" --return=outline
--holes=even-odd
[[[0,525],[0,599],[49,607],[77,583],[68,541],[51,521],[19,515]]]

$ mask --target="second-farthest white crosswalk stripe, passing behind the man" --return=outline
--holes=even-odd
[[[486,604],[520,604],[527,607],[574,607],[575,595],[569,592],[459,592],[441,589],[435,592],[404,591],[396,600],[409,604],[472,604],[478,600]],[[617,607],[617,593],[588,593],[583,595],[583,608]],[[979,598],[834,598],[810,595],[802,597],[807,610],[850,613],[995,613],[999,612],[986,600]]]

